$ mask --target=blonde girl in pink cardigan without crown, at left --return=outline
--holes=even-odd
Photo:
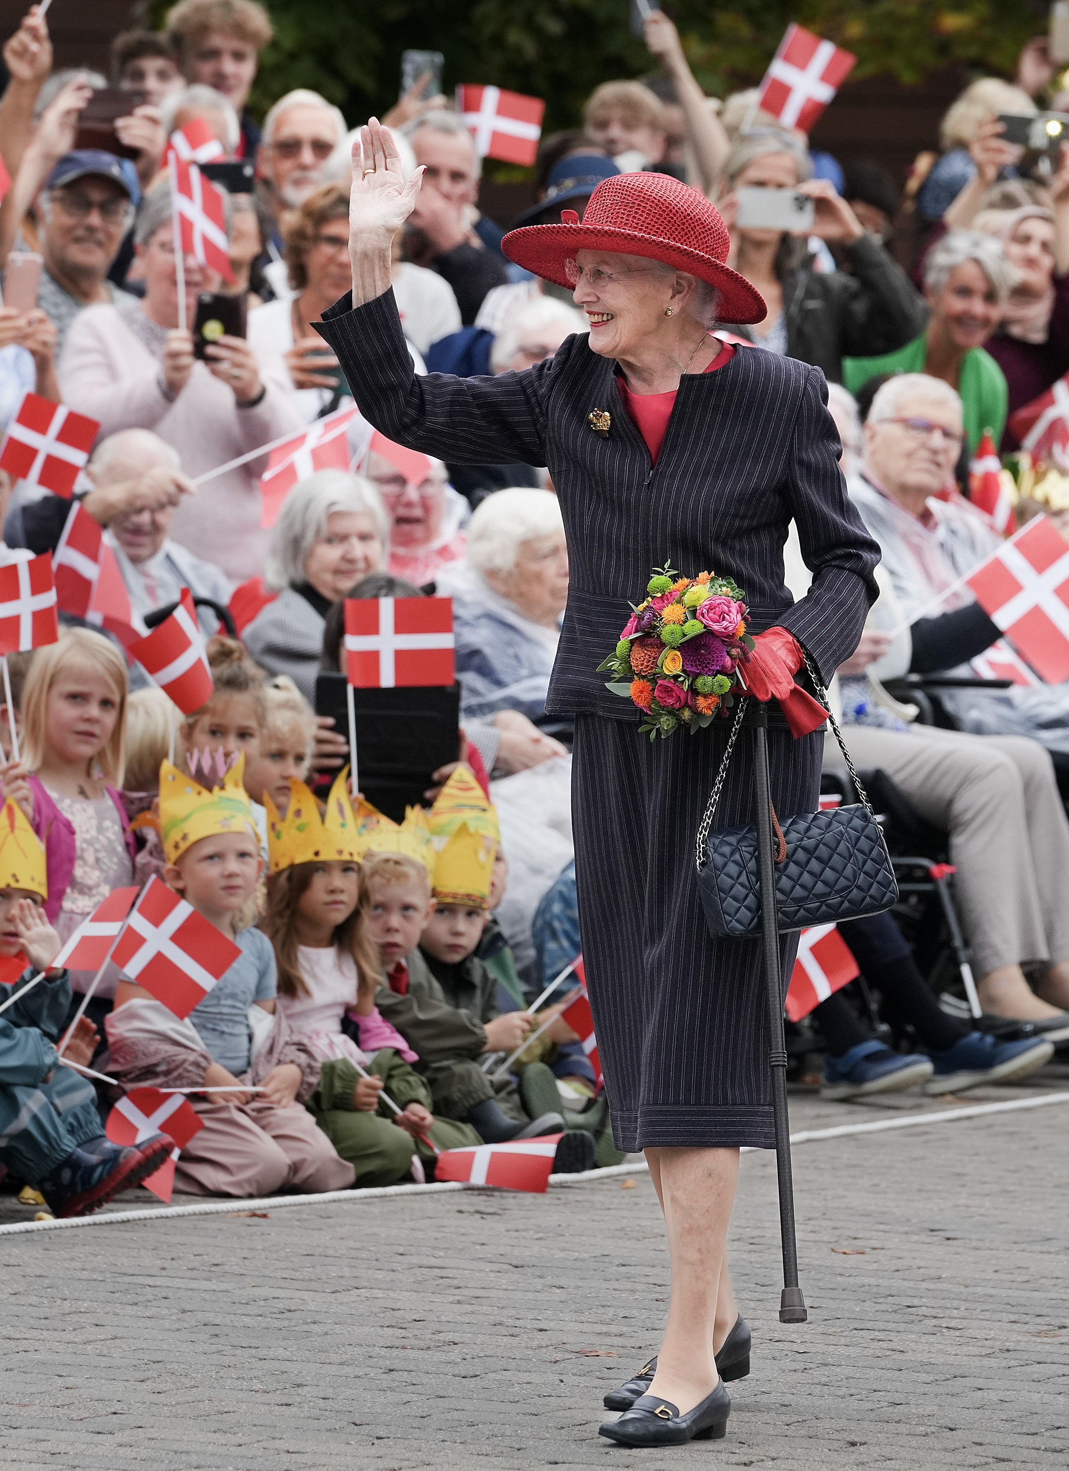
[[[126,660],[88,628],[65,628],[38,649],[22,690],[22,762],[4,768],[3,794],[44,843],[46,913],[62,940],[134,877],[137,847],[119,794],[126,690]],[[81,975],[72,984],[85,989]],[[106,977],[100,994],[113,984]]]

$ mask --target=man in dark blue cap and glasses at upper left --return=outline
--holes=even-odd
[[[65,154],[44,182],[40,203],[44,269],[37,304],[56,325],[56,357],[85,306],[122,293],[107,279],[134,215],[131,187],[113,153]]]

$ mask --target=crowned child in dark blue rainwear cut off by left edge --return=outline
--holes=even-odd
[[[34,1186],[54,1217],[88,1215],[153,1174],[174,1149],[166,1134],[135,1147],[100,1128],[88,1078],[59,1061],[71,984],[49,966],[60,938],[44,913],[46,853],[22,809],[0,812],[0,1165]],[[38,971],[44,980],[31,981]],[[65,1056],[85,1065],[97,1040],[82,1018]]]

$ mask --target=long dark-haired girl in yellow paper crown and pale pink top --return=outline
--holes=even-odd
[[[275,946],[279,1011],[322,1062],[307,1108],[354,1167],[359,1186],[388,1186],[409,1174],[413,1153],[434,1159],[426,1139],[438,1149],[481,1140],[463,1124],[435,1121],[429,1089],[409,1066],[415,1052],[375,1008],[378,956],[359,908],[363,840],[346,778],[343,772],[334,783],[322,816],[301,781],[291,784],[285,818],[266,794],[271,875],[263,928]],[[359,1046],[347,1034],[350,1019]],[[357,1065],[372,1077],[362,1077]]]

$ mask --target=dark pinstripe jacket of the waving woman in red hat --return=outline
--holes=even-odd
[[[754,631],[779,624],[825,680],[848,658],[876,597],[879,547],[845,493],[818,368],[741,349],[679,384],[656,466],[616,388],[616,365],[569,337],[554,357],[494,378],[418,378],[393,291],[315,324],[360,412],[384,434],[454,463],[547,465],[568,534],[571,587],[546,709],[634,719],[597,665],[613,649],[654,563],[732,577]],[[607,410],[607,437],[588,422]],[[782,549],[791,519],[813,572],[793,603]]]

